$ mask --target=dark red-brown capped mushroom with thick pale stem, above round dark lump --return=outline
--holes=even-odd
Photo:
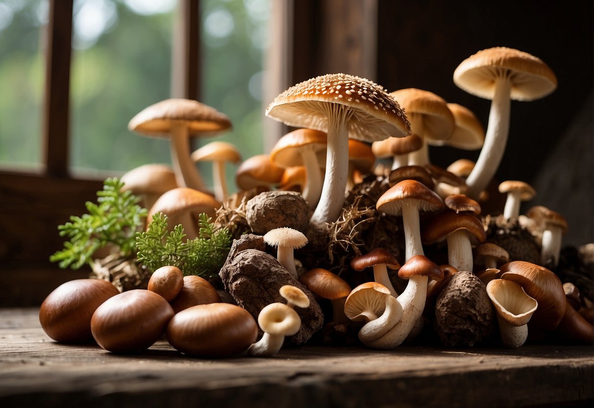
[[[486,240],[485,229],[480,219],[472,214],[447,211],[429,222],[423,231],[423,243],[432,244],[447,240],[448,263],[459,271],[472,272],[471,234],[479,242]]]

